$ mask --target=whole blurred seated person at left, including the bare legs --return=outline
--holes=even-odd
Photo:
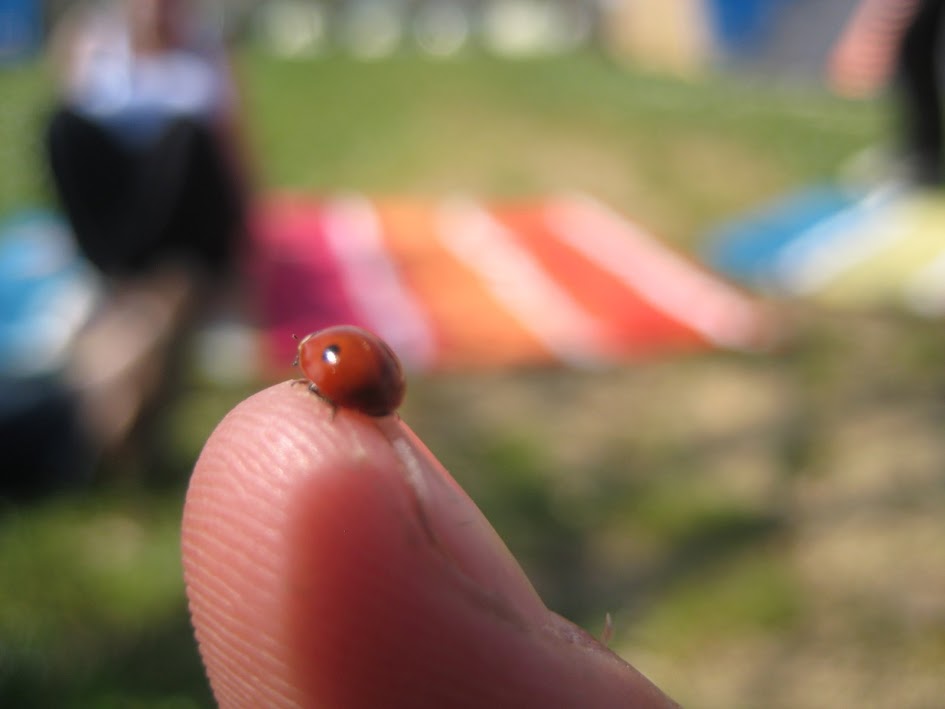
[[[84,3],[51,42],[52,183],[105,292],[62,378],[105,455],[140,456],[127,449],[147,443],[135,434],[171,393],[195,315],[233,296],[248,170],[224,47],[201,17],[188,0]]]

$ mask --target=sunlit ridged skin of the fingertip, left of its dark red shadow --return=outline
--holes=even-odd
[[[359,418],[333,416],[290,383],[241,402],[196,463],[182,556],[201,655],[221,706],[305,705],[284,622],[293,501],[340,460],[377,457],[382,438]]]

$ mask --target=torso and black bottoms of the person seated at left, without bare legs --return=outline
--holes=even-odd
[[[52,52],[62,98],[49,164],[86,257],[110,276],[170,260],[225,271],[245,201],[236,95],[222,47],[191,4],[80,6]]]

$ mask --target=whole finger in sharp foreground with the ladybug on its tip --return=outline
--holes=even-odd
[[[183,565],[222,707],[673,707],[550,612],[397,417],[276,385],[220,423]]]

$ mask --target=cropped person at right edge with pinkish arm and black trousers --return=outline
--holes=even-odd
[[[920,187],[945,179],[939,50],[945,0],[862,0],[830,58],[835,89],[861,98],[892,82],[905,177]]]

